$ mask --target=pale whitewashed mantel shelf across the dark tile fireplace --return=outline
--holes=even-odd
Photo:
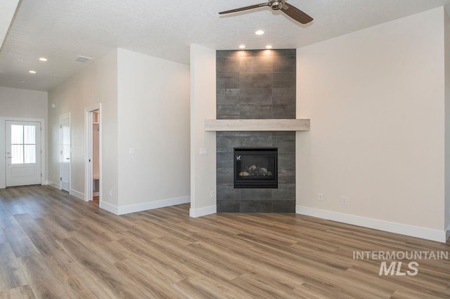
[[[205,131],[309,131],[309,119],[205,119]]]

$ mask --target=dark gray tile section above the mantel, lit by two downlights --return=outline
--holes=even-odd
[[[217,51],[217,119],[295,119],[295,49]]]

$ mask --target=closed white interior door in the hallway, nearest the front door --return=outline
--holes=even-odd
[[[60,189],[70,192],[70,114],[60,116]]]

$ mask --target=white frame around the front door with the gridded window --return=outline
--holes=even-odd
[[[34,121],[41,124],[41,185],[49,185],[46,180],[46,126],[45,119],[27,117],[0,117],[0,189],[6,188],[6,121]],[[4,153],[4,154],[1,154]]]

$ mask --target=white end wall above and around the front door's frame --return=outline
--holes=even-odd
[[[18,117],[23,119],[44,119],[47,123],[47,93],[44,91],[28,91],[25,89],[0,87],[0,152],[5,152],[5,119]],[[44,128],[45,128],[44,126]],[[47,135],[44,134],[44,150],[47,148]],[[46,174],[46,159],[42,171]],[[6,187],[5,155],[0,154],[0,188]],[[44,178],[46,180],[46,178]]]

